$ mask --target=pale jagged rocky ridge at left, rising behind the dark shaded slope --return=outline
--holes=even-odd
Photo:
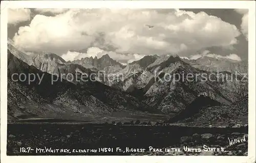
[[[17,57],[18,59],[24,61],[28,65],[33,65],[37,69],[48,72],[50,74],[55,74],[60,76],[62,74],[63,78],[66,79],[66,75],[68,73],[87,73],[90,75],[92,72],[98,75],[98,79],[102,79],[103,73],[116,73],[124,66],[119,62],[111,59],[108,54],[103,55],[101,58],[94,59],[91,58],[82,58],[81,60],[75,60],[73,62],[66,62],[60,56],[51,53],[51,52],[33,52],[33,55],[26,55],[25,52],[20,51],[20,49],[15,48],[11,41],[8,42],[8,49],[11,53]],[[100,70],[100,71],[99,71]],[[75,84],[77,82],[74,81]],[[103,84],[107,84],[108,82],[104,82],[102,79]]]

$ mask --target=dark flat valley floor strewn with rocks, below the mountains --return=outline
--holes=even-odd
[[[247,133],[248,126],[9,123],[7,155],[247,155]],[[229,140],[244,138],[244,142],[229,144]],[[150,151],[150,146],[158,150]],[[186,146],[201,151],[186,152]],[[137,148],[139,152],[134,151]],[[165,151],[171,148],[180,148],[181,151]]]

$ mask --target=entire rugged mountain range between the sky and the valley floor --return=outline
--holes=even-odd
[[[223,80],[219,80],[217,71],[222,72]],[[240,75],[236,76],[235,71]],[[38,85],[38,79],[32,84],[28,80],[14,82],[13,73],[45,76]],[[68,73],[100,76],[94,75],[96,82],[78,82],[67,78]],[[242,73],[248,73],[247,63],[210,57],[186,60],[174,55],[152,55],[123,66],[106,54],[99,59],[66,62],[49,52],[26,55],[9,42],[8,116],[61,117],[72,113],[82,117],[115,112],[169,115],[194,105],[230,105],[248,94],[248,82],[231,80],[241,80]],[[110,78],[102,80],[102,74],[110,74]],[[63,80],[58,78],[51,84],[52,75]],[[182,75],[192,75],[193,80],[179,79]],[[204,104],[211,100],[214,102]]]

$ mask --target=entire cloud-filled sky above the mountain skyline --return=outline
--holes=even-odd
[[[105,53],[121,63],[155,54],[246,61],[248,10],[9,9],[8,37],[66,61]]]

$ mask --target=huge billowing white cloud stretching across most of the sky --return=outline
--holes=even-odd
[[[130,56],[135,58],[135,53],[139,56],[189,53],[238,42],[236,37],[240,32],[236,26],[218,17],[204,12],[159,11],[70,9],[56,16],[36,15],[30,25],[19,28],[13,40],[27,50],[50,50],[58,54],[90,47],[116,55],[132,54],[119,56],[126,61],[132,60]]]

